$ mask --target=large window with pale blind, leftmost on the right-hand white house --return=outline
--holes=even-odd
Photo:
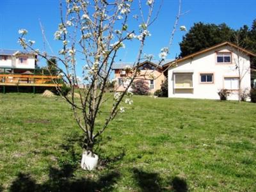
[[[175,88],[193,88],[193,74],[174,74]]]

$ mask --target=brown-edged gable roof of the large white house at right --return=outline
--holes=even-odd
[[[225,46],[225,45],[228,45],[228,46],[230,46],[230,47],[234,47],[234,48],[236,48],[236,49],[239,49],[239,51],[242,51],[242,52],[244,52],[245,54],[247,54],[247,55],[249,55],[249,56],[254,56],[254,57],[256,56],[255,53],[250,52],[250,51],[247,51],[246,49],[243,49],[242,47],[239,47],[239,46],[237,46],[237,45],[235,45],[235,44],[232,44],[232,43],[230,43],[230,42],[223,42],[223,43],[221,43],[221,44],[214,45],[214,46],[209,47],[209,48],[207,48],[207,49],[204,49],[204,50],[202,50],[202,51],[198,51],[198,52],[195,52],[195,53],[193,53],[193,54],[189,54],[188,56],[184,56],[183,58],[179,58],[179,59],[174,60],[174,61],[172,61],[172,62],[170,62],[170,63],[166,63],[165,65],[163,65],[163,67],[168,67],[168,65],[171,65],[173,62],[178,63],[178,62],[180,62],[180,61],[184,61],[184,60],[188,60],[188,59],[190,59],[190,58],[194,58],[195,56],[198,56],[198,55],[203,54],[203,53],[208,52],[208,51],[212,51],[212,50],[217,49],[217,48],[219,48],[219,47],[223,47],[223,46]]]

